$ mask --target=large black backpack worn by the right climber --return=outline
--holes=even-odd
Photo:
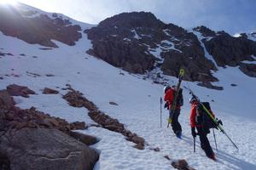
[[[207,110],[212,114],[211,106],[209,102],[201,102],[202,105],[204,105]],[[210,128],[217,128],[215,122],[212,121],[212,118],[207,114],[207,111],[205,111],[202,107],[202,105],[196,106],[196,116],[195,116],[195,124],[201,125],[207,133],[210,133]],[[212,114],[212,116],[214,116]]]

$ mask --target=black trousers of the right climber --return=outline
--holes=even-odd
[[[206,155],[208,157],[212,156],[213,151],[212,151],[212,147],[210,145],[209,140],[207,139],[207,132],[203,127],[196,127],[197,129],[197,133],[199,135],[199,139],[201,142],[201,149],[204,150],[206,152]]]

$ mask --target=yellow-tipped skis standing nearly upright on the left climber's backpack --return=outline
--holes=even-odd
[[[169,125],[172,123],[172,117],[174,115],[176,105],[177,105],[177,96],[179,94],[180,85],[181,85],[181,82],[183,80],[184,73],[185,73],[184,69],[179,70],[176,93],[174,94],[174,99],[172,100],[172,108],[170,110],[170,115],[169,115],[169,118],[168,118],[167,127],[169,127]]]

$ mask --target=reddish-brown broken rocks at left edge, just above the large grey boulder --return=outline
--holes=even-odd
[[[49,116],[36,108],[21,110],[15,107],[15,101],[7,90],[0,91],[0,130],[6,132],[10,129],[21,129],[24,127],[55,128],[63,133],[69,134],[71,130],[85,129],[84,122],[68,123],[59,117]]]

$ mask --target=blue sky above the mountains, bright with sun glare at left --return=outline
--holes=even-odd
[[[256,0],[18,0],[90,24],[131,11],[153,13],[184,28],[207,26],[230,34],[256,31]]]

